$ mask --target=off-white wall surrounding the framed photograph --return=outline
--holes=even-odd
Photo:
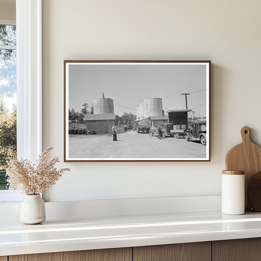
[[[63,60],[211,60],[211,162],[60,163],[50,201],[221,194],[227,151],[261,145],[261,2],[43,0],[43,149],[63,159]],[[48,194],[45,194],[48,197]]]

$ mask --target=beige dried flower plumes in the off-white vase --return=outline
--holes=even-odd
[[[36,164],[27,159],[19,161],[16,157],[10,158],[6,169],[9,189],[16,189],[25,192],[26,195],[37,195],[56,184],[64,171],[64,168],[57,170],[54,165],[59,162],[57,157],[49,159],[52,147],[48,147],[38,158]]]

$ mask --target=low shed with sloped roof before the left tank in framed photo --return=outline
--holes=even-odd
[[[96,133],[112,134],[112,126],[115,122],[115,114],[86,114],[83,121],[86,124],[86,132],[89,130],[94,130]]]

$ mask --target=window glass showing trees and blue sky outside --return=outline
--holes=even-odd
[[[16,155],[16,27],[0,25],[0,190],[7,189],[7,157]]]

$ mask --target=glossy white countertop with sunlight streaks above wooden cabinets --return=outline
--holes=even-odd
[[[0,256],[261,237],[261,213],[220,211],[0,222]]]

